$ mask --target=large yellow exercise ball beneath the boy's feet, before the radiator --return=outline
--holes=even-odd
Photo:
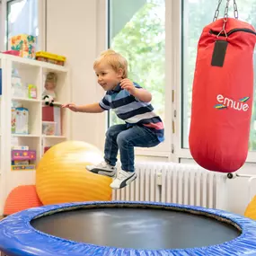
[[[110,200],[110,177],[88,172],[85,166],[102,161],[102,152],[81,141],[49,148],[36,170],[36,189],[43,205]]]

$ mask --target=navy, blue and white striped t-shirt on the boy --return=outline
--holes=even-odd
[[[136,88],[142,88],[133,83]],[[159,141],[164,140],[164,128],[162,119],[154,113],[150,102],[141,102],[136,97],[120,87],[120,84],[108,91],[100,102],[103,110],[114,110],[119,119],[128,125],[143,125],[155,132]]]

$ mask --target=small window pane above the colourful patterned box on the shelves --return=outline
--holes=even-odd
[[[13,36],[19,34],[38,37],[38,0],[15,0],[8,2],[7,44],[9,44],[9,40]]]

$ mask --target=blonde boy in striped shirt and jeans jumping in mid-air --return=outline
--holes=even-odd
[[[127,60],[108,49],[95,60],[93,69],[98,83],[106,91],[101,102],[76,106],[63,105],[75,112],[101,113],[114,110],[125,124],[114,125],[106,133],[104,162],[86,166],[93,173],[114,177],[110,187],[114,190],[126,187],[137,178],[134,168],[134,147],[157,146],[163,141],[163,122],[150,104],[152,95],[137,83],[128,79]],[[115,167],[120,154],[121,169]]]

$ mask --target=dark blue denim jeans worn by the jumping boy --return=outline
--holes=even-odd
[[[118,161],[119,152],[121,169],[134,172],[134,147],[152,147],[159,143],[149,128],[137,125],[128,128],[126,124],[114,125],[106,133],[104,158],[107,163],[114,166]]]

